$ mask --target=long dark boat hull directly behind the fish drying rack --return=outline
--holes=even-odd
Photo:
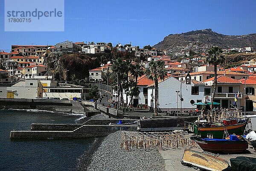
[[[138,121],[140,131],[168,131],[184,128],[184,122],[193,122],[198,116],[145,119]]]

